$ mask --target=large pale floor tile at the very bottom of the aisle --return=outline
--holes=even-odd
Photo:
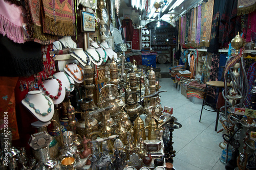
[[[176,158],[204,170],[210,170],[214,167],[219,157],[219,152],[212,151],[191,142],[176,155]]]

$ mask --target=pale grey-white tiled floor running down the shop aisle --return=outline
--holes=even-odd
[[[161,72],[162,68],[161,67]],[[166,71],[167,72],[167,71]],[[180,94],[170,78],[159,79],[162,106],[174,108],[173,116],[178,119],[182,128],[173,132],[173,147],[176,151],[174,167],[176,170],[222,170],[225,165],[219,161],[222,149],[219,143],[223,141],[222,134],[214,131],[216,113],[203,110],[201,123],[199,116],[201,104],[194,104]],[[218,125],[218,130],[221,124]]]

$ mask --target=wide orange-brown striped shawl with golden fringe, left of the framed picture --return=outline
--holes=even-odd
[[[58,36],[75,35],[73,0],[41,0],[42,28],[44,33]]]

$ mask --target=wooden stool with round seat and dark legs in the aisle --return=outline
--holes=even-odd
[[[201,122],[201,117],[202,117],[202,112],[203,109],[211,111],[211,112],[217,112],[217,117],[216,117],[216,124],[215,124],[215,131],[217,131],[217,127],[218,127],[218,120],[219,120],[219,114],[220,114],[220,108],[217,107],[217,111],[215,110],[209,110],[207,108],[205,108],[204,106],[209,106],[209,105],[215,105],[216,103],[207,103],[206,102],[206,98],[207,98],[207,89],[208,87],[217,87],[220,88],[219,92],[222,92],[222,88],[224,88],[224,82],[222,81],[210,81],[210,82],[206,82],[206,87],[204,90],[204,100],[203,100],[203,104],[202,104],[202,109],[201,109],[201,114],[200,114],[200,118],[199,118],[199,122]],[[227,83],[227,87],[230,87],[230,84]],[[217,95],[218,97],[218,95]]]

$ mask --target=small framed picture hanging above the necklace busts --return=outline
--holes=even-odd
[[[95,32],[94,14],[81,10],[82,32]]]

